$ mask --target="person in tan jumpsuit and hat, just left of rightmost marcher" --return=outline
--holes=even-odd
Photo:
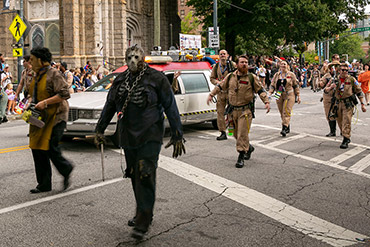
[[[323,89],[322,103],[324,105],[325,117],[330,127],[330,132],[326,135],[327,137],[336,136],[337,121],[335,119],[334,120],[329,119],[329,110],[331,106],[331,100],[334,94],[334,89],[326,88],[326,86],[330,85],[333,82],[332,78],[336,76],[336,73],[339,69],[339,65],[340,65],[339,61],[335,60],[335,56],[333,56],[333,62],[331,62],[328,65],[329,72],[326,73],[320,80],[320,88]]]

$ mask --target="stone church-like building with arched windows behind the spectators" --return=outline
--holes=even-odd
[[[10,0],[9,10],[0,10],[0,53],[15,68],[8,27],[15,16],[9,13],[20,0]],[[124,63],[128,46],[138,44],[149,52],[154,45],[155,0],[23,0],[24,17],[31,24],[24,53],[37,46],[48,47],[55,61],[70,67],[107,62],[111,69]],[[8,13],[8,14],[5,14]],[[178,43],[180,18],[177,2],[160,0],[160,45],[168,49]],[[171,41],[173,44],[171,44]]]

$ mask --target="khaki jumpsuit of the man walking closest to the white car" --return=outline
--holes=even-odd
[[[233,66],[236,67],[235,63],[233,62]],[[216,63],[216,65],[212,69],[211,73],[211,82],[213,85],[220,84],[223,79],[229,74],[227,69],[227,65],[221,65],[221,62]],[[226,130],[226,123],[225,123],[225,107],[227,104],[227,91],[221,91],[217,95],[217,103],[216,103],[216,110],[217,110],[217,126],[219,131]]]

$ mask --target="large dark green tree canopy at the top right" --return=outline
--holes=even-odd
[[[252,46],[256,42],[262,42],[258,44],[263,47],[261,51],[266,49],[278,53],[274,49],[282,41],[285,45],[302,47],[304,42],[323,40],[343,32],[348,23],[354,23],[363,17],[364,7],[369,2],[369,0],[218,0],[218,26],[221,37],[225,40],[225,48],[233,55],[240,45],[243,46],[242,50],[253,50]],[[213,1],[189,0],[187,5],[195,9],[196,16],[203,18],[205,27],[213,26]],[[342,18],[343,16],[346,18]],[[236,43],[240,40],[246,42]]]

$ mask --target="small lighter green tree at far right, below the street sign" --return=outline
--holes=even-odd
[[[330,44],[330,56],[335,53],[340,56],[348,54],[349,61],[354,58],[363,58],[365,56],[365,52],[361,48],[363,42],[364,39],[358,34],[340,37],[339,40],[334,41],[334,44]]]

